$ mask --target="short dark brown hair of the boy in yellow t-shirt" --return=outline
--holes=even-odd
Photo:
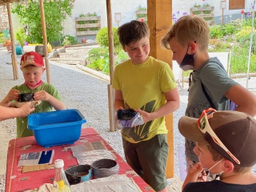
[[[150,30],[145,22],[133,20],[118,28],[118,36],[121,45],[127,46],[130,42],[138,42],[142,38],[150,37]]]

